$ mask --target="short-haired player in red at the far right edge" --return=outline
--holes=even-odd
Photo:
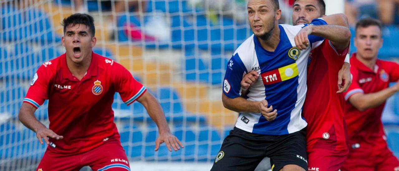
[[[388,97],[399,91],[399,64],[377,59],[381,23],[366,18],[356,24],[350,69],[353,84],[344,93],[350,152],[342,171],[399,171],[399,161],[388,149],[381,114]],[[396,82],[388,87],[389,82]]]

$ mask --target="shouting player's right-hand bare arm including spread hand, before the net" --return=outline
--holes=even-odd
[[[146,108],[148,115],[150,115],[151,119],[154,120],[154,122],[158,126],[159,136],[155,141],[155,151],[158,151],[160,144],[162,144],[163,142],[165,142],[166,147],[168,147],[169,151],[172,151],[172,148],[174,149],[174,151],[178,151],[180,147],[183,148],[184,146],[179,141],[179,139],[177,139],[174,135],[170,133],[164,111],[162,111],[161,105],[158,103],[156,98],[151,95],[151,93],[148,93],[148,91],[146,91],[140,98],[137,99],[137,101]]]

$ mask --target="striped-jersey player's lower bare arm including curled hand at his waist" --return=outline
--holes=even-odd
[[[261,113],[268,121],[273,121],[277,117],[277,109],[273,110],[273,106],[268,106],[267,100],[249,101],[243,97],[229,98],[222,93],[223,106],[236,112],[253,112]]]

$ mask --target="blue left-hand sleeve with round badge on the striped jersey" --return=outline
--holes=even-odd
[[[241,80],[248,73],[238,53],[227,63],[226,74],[223,81],[223,93],[229,98],[240,97]]]

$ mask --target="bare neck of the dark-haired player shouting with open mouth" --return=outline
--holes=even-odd
[[[67,58],[67,66],[69,71],[75,76],[79,81],[82,80],[83,76],[86,75],[91,63],[91,53],[83,58],[80,63],[75,63]]]

